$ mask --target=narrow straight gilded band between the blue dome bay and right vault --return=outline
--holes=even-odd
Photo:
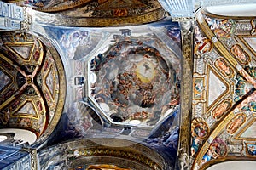
[[[178,161],[181,169],[189,169],[189,140],[190,140],[190,115],[192,108],[192,71],[193,71],[193,31],[192,23],[180,23],[182,27],[183,63],[182,63],[182,88],[181,88],[181,118]]]

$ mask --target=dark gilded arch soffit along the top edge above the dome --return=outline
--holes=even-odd
[[[52,24],[61,26],[137,25],[161,20],[166,15],[156,0],[47,0],[21,1],[18,4],[56,14],[52,17],[56,17],[57,22]]]

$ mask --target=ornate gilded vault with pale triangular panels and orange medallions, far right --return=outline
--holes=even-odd
[[[255,21],[205,11],[196,17],[193,167],[235,156],[255,158]]]

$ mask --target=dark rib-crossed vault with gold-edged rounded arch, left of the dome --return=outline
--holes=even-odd
[[[49,135],[65,96],[60,56],[49,42],[27,33],[3,32],[1,42],[1,133],[19,133],[10,130],[19,128],[36,138],[45,131]]]

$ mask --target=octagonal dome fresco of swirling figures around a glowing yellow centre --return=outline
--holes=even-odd
[[[153,47],[120,41],[90,59],[90,99],[110,122],[154,127],[179,103],[177,75]]]

